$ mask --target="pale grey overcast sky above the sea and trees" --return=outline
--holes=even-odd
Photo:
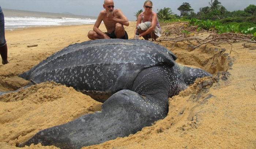
[[[120,8],[129,20],[136,20],[135,13],[143,9],[145,0],[114,0],[115,8]],[[168,7],[180,15],[177,8],[182,3],[189,3],[195,12],[200,7],[210,6],[211,0],[151,0],[153,11]],[[214,1],[214,0],[213,0]],[[219,0],[228,11],[243,10],[250,4],[256,5],[256,0]],[[5,9],[63,13],[74,15],[98,16],[103,9],[103,0],[0,0],[0,6]]]

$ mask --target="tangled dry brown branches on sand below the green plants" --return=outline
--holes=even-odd
[[[197,26],[189,26],[189,22],[178,22],[174,24],[174,26],[169,26],[163,32],[162,36],[158,38],[158,41],[172,41],[174,45],[176,42],[184,42],[187,41],[192,43],[191,41],[196,41],[198,45],[193,46],[193,49],[210,43],[212,45],[218,46],[223,42],[238,42],[238,41],[246,41],[246,43],[242,44],[244,47],[256,47],[256,40],[252,35],[244,35],[244,34],[235,34],[235,33],[225,33],[218,34],[215,31],[210,31],[210,34],[205,39],[190,37],[191,34],[198,34],[199,32],[205,32],[207,30],[197,30]],[[209,32],[209,31],[207,31]],[[169,35],[174,35],[174,37],[169,38]],[[174,47],[173,45],[173,47]]]

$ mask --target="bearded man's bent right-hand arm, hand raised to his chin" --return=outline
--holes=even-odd
[[[120,10],[120,9],[115,9],[115,15],[117,17],[114,17],[112,15],[111,12],[106,12],[107,13],[107,17],[110,19],[110,20],[113,20],[115,22],[118,22],[118,23],[121,23],[125,26],[129,26],[129,21],[128,19],[124,16],[123,12]]]

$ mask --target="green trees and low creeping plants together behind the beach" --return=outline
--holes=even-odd
[[[177,9],[180,15],[173,14],[170,8],[157,9],[158,19],[162,23],[187,21],[198,26],[198,30],[215,30],[221,34],[252,34],[253,39],[256,38],[256,5],[251,4],[244,10],[229,12],[218,0],[211,0],[209,6],[199,8],[197,13],[189,3],[182,3]],[[184,35],[188,33],[184,31]]]

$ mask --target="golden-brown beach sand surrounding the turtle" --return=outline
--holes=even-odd
[[[0,65],[0,91],[12,91],[28,83],[18,75],[64,47],[89,40],[93,25],[36,27],[6,31],[10,64]],[[101,30],[105,31],[103,24]],[[135,22],[126,27],[129,38]],[[197,37],[209,33],[196,34]],[[38,44],[36,47],[27,45]],[[158,42],[172,49],[173,42]],[[196,43],[192,43],[196,44]],[[221,48],[226,51],[219,53]],[[232,49],[232,51],[231,51]],[[187,90],[169,98],[169,113],[136,134],[83,149],[255,149],[256,148],[256,50],[242,42],[210,44],[189,50],[177,43],[171,50],[177,62],[214,74],[196,80]],[[230,53],[231,52],[231,53]],[[41,83],[0,97],[0,149],[37,131],[101,110],[101,103],[56,83]],[[31,145],[26,149],[53,149]]]

